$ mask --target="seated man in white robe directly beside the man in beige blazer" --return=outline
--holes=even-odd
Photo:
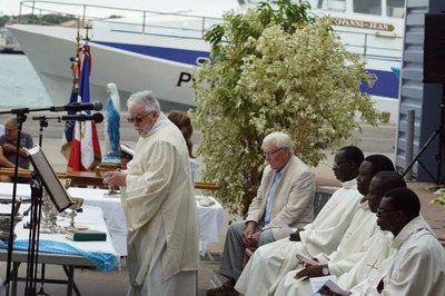
[[[357,190],[356,180],[363,160],[362,150],[355,146],[338,150],[334,158],[333,170],[342,182],[342,188],[333,194],[316,219],[298,231],[300,241],[284,238],[259,247],[235,286],[238,292],[247,296],[267,295],[280,267],[287,264],[291,269],[297,264],[296,253],[314,257],[322,251],[332,253],[337,248],[363,197]],[[295,260],[285,262],[287,254],[294,254],[290,258]]]

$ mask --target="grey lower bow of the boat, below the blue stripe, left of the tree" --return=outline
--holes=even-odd
[[[30,24],[14,24],[9,29],[20,40],[24,53],[38,72],[53,103],[67,103],[72,89],[72,73],[67,52],[72,52],[73,56],[76,49],[73,37],[77,30]],[[93,31],[92,36],[95,36]],[[106,102],[108,98],[106,86],[115,82],[121,98],[125,98],[121,100],[123,110],[129,95],[145,89],[155,91],[161,101],[161,107],[167,110],[196,106],[192,101],[191,66],[95,42],[90,42],[90,48],[91,101]]]

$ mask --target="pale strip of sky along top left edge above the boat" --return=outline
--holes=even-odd
[[[236,0],[59,0],[66,3],[88,3],[119,8],[161,10],[176,12],[194,9],[197,12],[211,10],[228,10],[236,7]],[[31,1],[29,2],[31,4]],[[19,14],[20,0],[0,0],[0,14]]]

